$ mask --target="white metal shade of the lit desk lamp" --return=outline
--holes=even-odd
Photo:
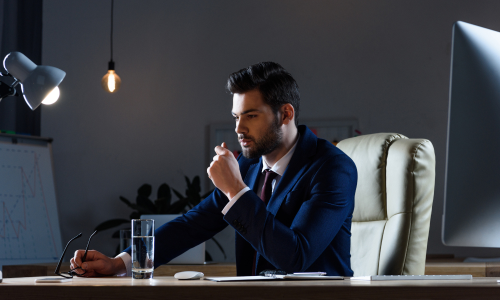
[[[36,65],[21,52],[8,53],[3,59],[3,67],[19,80],[22,96],[32,110],[40,105],[66,75],[66,72],[56,67]]]

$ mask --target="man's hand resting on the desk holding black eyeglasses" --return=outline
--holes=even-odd
[[[125,264],[119,257],[111,258],[98,251],[88,250],[85,261],[82,263],[81,257],[83,257],[83,253],[85,253],[85,250],[76,250],[74,257],[70,261],[71,269],[81,266],[82,269],[86,270],[82,275],[84,277],[113,276],[126,272]],[[83,273],[81,269],[74,271],[78,274]]]

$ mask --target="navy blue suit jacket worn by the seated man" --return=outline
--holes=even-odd
[[[287,272],[324,271],[352,276],[350,226],[357,171],[354,162],[330,142],[298,126],[295,152],[274,187],[267,206],[256,195],[262,158],[238,157],[241,177],[251,190],[227,211],[217,188],[182,216],[155,230],[154,266],[209,239],[227,225],[236,231],[238,276],[279,268]],[[125,250],[130,253],[130,248]]]

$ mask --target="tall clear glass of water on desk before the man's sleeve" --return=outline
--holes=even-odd
[[[154,267],[154,220],[132,220],[132,278],[151,279]]]

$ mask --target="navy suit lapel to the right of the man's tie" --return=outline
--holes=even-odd
[[[290,162],[283,176],[279,179],[278,185],[275,187],[269,199],[269,203],[267,204],[267,210],[273,215],[276,215],[285,195],[290,191],[293,185],[295,185],[302,173],[309,167],[309,157],[316,153],[316,135],[305,125],[298,126],[298,131],[300,132],[300,137],[295,152],[293,152]],[[260,168],[262,168],[262,166],[260,166]]]

